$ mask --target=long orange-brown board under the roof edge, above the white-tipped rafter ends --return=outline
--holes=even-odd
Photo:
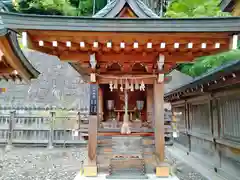
[[[112,42],[128,42],[134,43],[138,41],[140,44],[152,42],[157,44],[159,42],[168,42],[173,44],[175,42],[188,43],[196,41],[221,41],[228,40],[229,33],[128,33],[128,32],[84,32],[84,31],[50,31],[50,30],[29,30],[33,37],[44,40],[61,40],[61,41],[85,41],[92,44],[94,41],[100,43],[107,43],[109,40]]]

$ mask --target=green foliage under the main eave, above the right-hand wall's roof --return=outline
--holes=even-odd
[[[184,64],[180,66],[180,71],[192,77],[197,77],[213,68],[217,68],[225,63],[239,59],[240,50],[232,50],[217,55],[197,58],[194,64]]]

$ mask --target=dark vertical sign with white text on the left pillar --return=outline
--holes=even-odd
[[[98,111],[98,85],[90,84],[90,115],[97,115]]]

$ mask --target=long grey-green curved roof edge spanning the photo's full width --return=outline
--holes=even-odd
[[[94,18],[0,12],[4,26],[15,30],[92,32],[240,32],[240,17]],[[66,25],[67,23],[67,25]],[[224,26],[223,26],[224,24]]]

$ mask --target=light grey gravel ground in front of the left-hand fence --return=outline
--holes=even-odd
[[[73,180],[86,148],[0,149],[0,180]]]

